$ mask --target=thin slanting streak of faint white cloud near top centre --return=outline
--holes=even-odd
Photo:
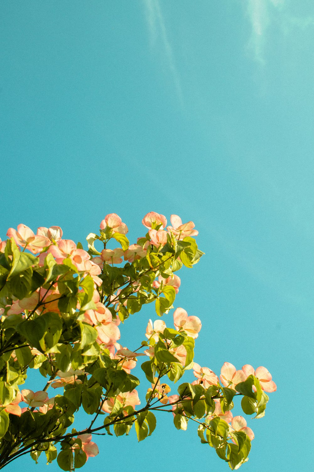
[[[176,88],[177,97],[181,105],[183,105],[183,94],[180,78],[177,72],[174,54],[169,42],[159,0],[143,0],[143,3],[145,7],[145,17],[149,29],[151,46],[153,47],[157,41],[161,42],[164,51],[164,57],[170,69]]]

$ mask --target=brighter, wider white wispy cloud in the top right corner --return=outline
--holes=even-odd
[[[244,0],[244,5],[252,28],[247,47],[261,65],[266,64],[265,46],[269,26],[272,23],[276,22],[285,34],[290,32],[291,26],[304,29],[309,25],[314,25],[314,15],[291,16],[286,0]]]

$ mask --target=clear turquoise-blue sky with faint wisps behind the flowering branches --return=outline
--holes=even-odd
[[[176,306],[202,320],[196,362],[264,365],[278,385],[242,470],[309,470],[313,2],[16,0],[0,22],[0,237],[59,225],[83,242],[116,212],[135,242],[148,211],[192,219],[206,255]],[[125,324],[129,348],[148,318]],[[170,416],[140,444],[99,439],[85,470],[229,470]]]

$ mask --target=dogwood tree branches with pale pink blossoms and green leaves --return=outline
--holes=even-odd
[[[35,235],[20,224],[0,240],[0,469],[27,453],[37,462],[44,452],[48,463],[56,459],[72,471],[98,454],[92,433],[128,435],[134,426],[142,441],[153,433],[158,411],[172,413],[177,429],[195,422],[201,442],[231,469],[248,460],[254,433],[244,417],[233,416],[233,398],[242,396],[241,413],[264,416],[266,392],[276,390],[265,367],[236,370],[225,362],[218,378],[194,362],[201,321],[183,308],[173,312],[174,327],[149,320],[145,339],[132,350],[118,343],[119,324],[144,304],[154,303],[159,317],[173,308],[175,272],[203,254],[193,222],[170,220],[167,227],[163,215],[148,213],[147,234],[129,245],[127,226],[109,214],[99,235],[87,236],[88,251],[62,239],[56,226]],[[144,402],[131,374],[137,359],[149,382]],[[187,370],[195,380],[173,385]],[[42,390],[33,391],[40,376]],[[21,388],[25,381],[33,390]],[[81,409],[91,420],[77,431]]]

